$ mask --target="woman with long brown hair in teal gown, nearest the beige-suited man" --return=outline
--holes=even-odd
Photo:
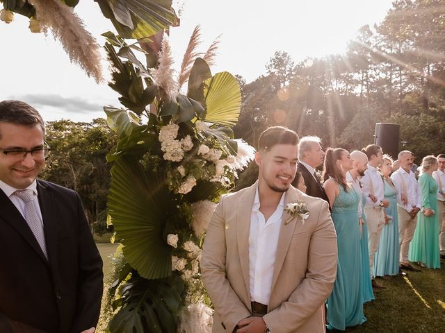
[[[337,231],[339,261],[334,289],[327,298],[327,328],[345,330],[366,321],[362,298],[362,257],[358,223],[358,194],[346,182],[346,171],[353,167],[348,151],[326,151],[323,178],[332,221]]]

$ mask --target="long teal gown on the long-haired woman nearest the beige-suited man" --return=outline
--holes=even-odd
[[[364,323],[362,297],[362,257],[360,230],[357,221],[358,195],[353,188],[340,193],[332,207],[332,221],[337,231],[339,260],[334,289],[327,298],[327,328],[345,330]]]

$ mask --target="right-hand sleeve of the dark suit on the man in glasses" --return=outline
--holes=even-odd
[[[79,219],[79,278],[76,314],[70,333],[80,333],[90,327],[96,327],[104,289],[102,258],[92,239],[81,199],[77,194],[76,199]]]

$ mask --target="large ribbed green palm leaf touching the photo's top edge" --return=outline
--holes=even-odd
[[[172,0],[95,0],[119,35],[140,39],[177,25]]]

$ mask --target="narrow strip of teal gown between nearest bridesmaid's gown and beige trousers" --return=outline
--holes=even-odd
[[[362,194],[362,235],[360,236],[360,254],[362,255],[362,298],[363,302],[375,300],[373,286],[371,284],[371,271],[369,269],[369,247],[368,247],[368,226],[366,225],[366,215],[364,205],[366,196]]]

